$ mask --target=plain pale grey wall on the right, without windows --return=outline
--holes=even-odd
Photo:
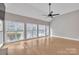
[[[52,19],[53,35],[79,39],[79,10]]]

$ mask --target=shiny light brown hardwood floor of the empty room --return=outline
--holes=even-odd
[[[79,41],[59,37],[43,37],[7,44],[9,55],[77,55]]]

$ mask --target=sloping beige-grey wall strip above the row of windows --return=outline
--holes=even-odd
[[[23,22],[23,23],[35,23],[35,24],[49,25],[49,22],[47,21],[38,20],[35,18],[21,16],[17,14],[8,13],[8,12],[5,13],[5,20]]]

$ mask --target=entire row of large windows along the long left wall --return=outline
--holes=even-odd
[[[5,29],[6,42],[14,42],[49,35],[48,25],[5,21]],[[0,36],[1,35],[2,33]]]

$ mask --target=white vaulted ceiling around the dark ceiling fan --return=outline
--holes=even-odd
[[[5,3],[6,12],[50,21],[43,15],[48,14],[48,3]],[[60,15],[79,9],[79,3],[52,3],[54,13]]]

